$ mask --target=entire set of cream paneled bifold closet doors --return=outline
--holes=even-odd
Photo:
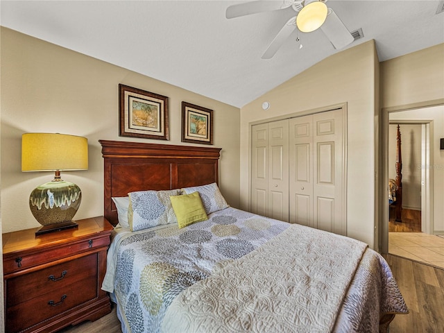
[[[252,212],[346,234],[342,112],[252,126]]]

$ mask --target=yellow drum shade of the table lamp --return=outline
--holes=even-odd
[[[22,171],[87,170],[88,140],[76,135],[22,135]]]

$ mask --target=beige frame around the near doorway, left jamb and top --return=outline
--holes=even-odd
[[[417,109],[425,109],[430,108],[432,106],[441,106],[444,105],[444,99],[436,99],[433,101],[422,101],[418,103],[411,103],[407,105],[396,105],[388,108],[382,108],[380,113],[380,145],[379,145],[379,156],[381,159],[379,160],[379,193],[386,194],[387,193],[387,184],[388,184],[388,123],[389,117],[388,115],[391,112],[400,112],[400,111],[408,111],[408,110],[417,110]],[[388,253],[388,200],[386,200],[386,195],[380,195],[377,198],[379,203],[379,214],[375,216],[379,216],[379,222],[376,224],[379,227],[378,238],[379,238],[379,246],[378,250],[381,253]]]

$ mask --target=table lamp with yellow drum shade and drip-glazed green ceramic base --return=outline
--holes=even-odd
[[[25,133],[22,135],[22,171],[54,171],[55,177],[36,187],[29,196],[29,207],[42,225],[36,235],[76,228],[72,221],[82,192],[62,180],[60,171],[88,169],[88,142],[85,137],[58,133]]]

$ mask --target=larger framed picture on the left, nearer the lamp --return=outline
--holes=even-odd
[[[120,136],[169,139],[168,97],[119,85]]]

